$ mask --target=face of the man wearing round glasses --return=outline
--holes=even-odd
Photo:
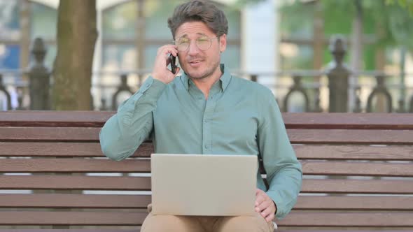
[[[181,68],[190,78],[208,78],[219,71],[221,52],[227,45],[225,34],[216,38],[216,34],[203,22],[186,22],[176,29],[175,41],[177,46],[189,43],[187,50],[178,52],[178,57]],[[204,50],[202,44],[209,44],[209,41],[211,46]]]

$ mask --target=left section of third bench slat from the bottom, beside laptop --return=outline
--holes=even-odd
[[[147,208],[148,195],[0,194],[0,208]]]

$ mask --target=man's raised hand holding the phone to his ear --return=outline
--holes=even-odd
[[[155,64],[153,65],[152,77],[156,80],[160,80],[165,84],[172,82],[176,75],[179,73],[180,68],[176,68],[176,74],[172,73],[168,69],[169,65],[169,54],[178,56],[178,50],[176,50],[175,45],[165,45],[158,48],[158,52],[155,58]]]

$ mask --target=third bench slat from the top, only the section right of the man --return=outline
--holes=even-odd
[[[293,145],[298,159],[413,161],[413,146]]]

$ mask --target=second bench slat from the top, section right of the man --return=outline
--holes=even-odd
[[[288,129],[291,143],[413,144],[412,131]]]

